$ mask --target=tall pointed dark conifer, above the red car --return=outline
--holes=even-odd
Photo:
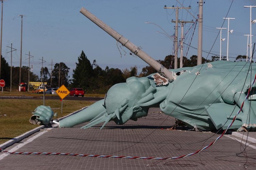
[[[72,87],[81,87],[84,90],[89,89],[93,75],[94,71],[91,62],[88,60],[84,51],[82,51],[78,57],[76,68],[73,70]]]

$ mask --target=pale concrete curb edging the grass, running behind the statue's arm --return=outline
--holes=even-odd
[[[86,107],[88,107],[88,106],[86,106]],[[71,113],[71,114],[69,114],[69,115],[67,115],[67,116],[61,117],[61,118],[59,118],[58,120],[62,120],[62,119],[64,119],[64,118],[66,118],[66,117],[69,117],[69,116],[71,116],[71,115],[74,115],[74,114],[76,114],[77,112],[82,111],[82,110],[85,109],[86,107],[83,107],[83,108],[81,108],[80,110],[75,111],[75,112],[73,112],[73,113]],[[51,122],[51,124],[53,124],[53,122]],[[32,129],[31,131],[28,131],[28,132],[26,132],[26,133],[24,133],[24,134],[18,136],[18,137],[12,138],[12,139],[8,140],[7,142],[4,142],[3,144],[1,144],[1,145],[0,145],[0,148],[1,148],[1,149],[8,148],[8,147],[12,146],[14,143],[17,143],[17,142],[19,142],[19,141],[25,139],[26,137],[29,137],[30,135],[33,135],[33,134],[36,133],[36,132],[39,132],[41,129],[44,129],[44,128],[45,128],[45,125],[41,125],[41,126],[35,128],[35,129]]]

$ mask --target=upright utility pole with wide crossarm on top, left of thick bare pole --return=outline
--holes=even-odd
[[[164,7],[164,9],[175,9],[176,10],[176,20],[171,21],[175,22],[175,37],[174,37],[174,69],[178,68],[178,22],[179,22],[179,9],[191,9],[191,7]]]

